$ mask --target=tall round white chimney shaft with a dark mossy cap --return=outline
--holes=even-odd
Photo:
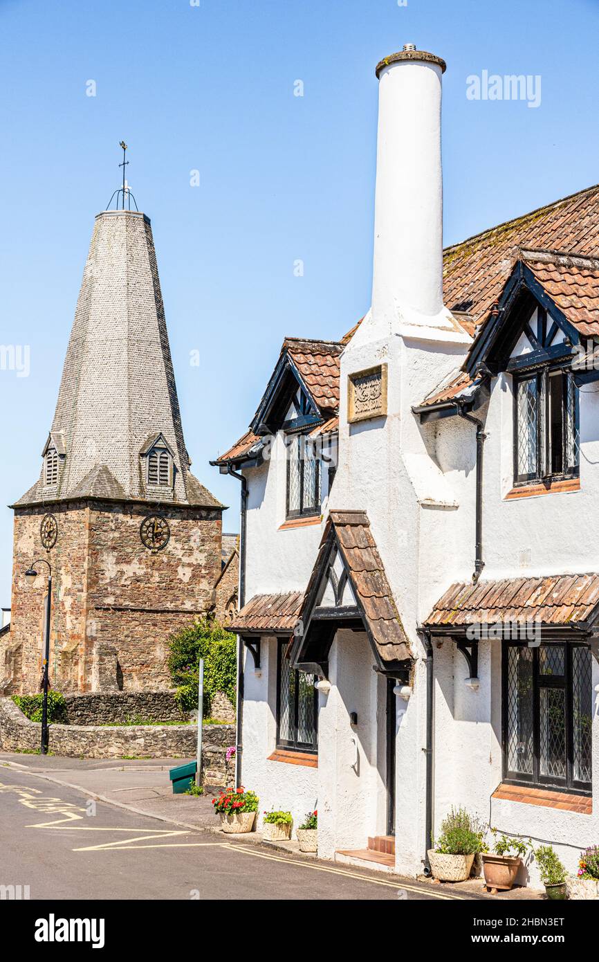
[[[445,62],[406,44],[377,65],[379,131],[372,322],[447,325],[443,308],[441,77]]]

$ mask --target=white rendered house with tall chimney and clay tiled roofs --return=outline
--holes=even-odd
[[[599,188],[443,251],[444,69],[378,64],[371,310],[287,338],[214,462],[242,479],[240,779],[296,826],[317,808],[324,858],[419,873],[464,805],[574,872],[599,841]]]

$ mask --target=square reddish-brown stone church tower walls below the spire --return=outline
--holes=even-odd
[[[39,557],[53,568],[50,682],[63,694],[89,692],[98,679],[114,690],[170,687],[168,637],[206,613],[220,572],[221,512],[161,505],[170,539],[153,553],[139,525],[148,505],[87,502],[52,505],[57,543],[41,546],[47,508],[19,508],[14,518],[10,644],[20,646],[21,677],[5,692],[35,693],[41,679],[45,566],[37,583],[23,572]],[[113,682],[97,671],[96,652],[115,650]],[[12,664],[16,663],[12,658]],[[106,668],[106,660],[103,668]],[[95,668],[94,668],[95,666]],[[0,679],[1,681],[1,679]]]

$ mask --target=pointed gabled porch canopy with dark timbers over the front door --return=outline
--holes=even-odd
[[[288,657],[302,671],[328,676],[338,628],[364,631],[374,669],[408,680],[412,651],[364,511],[327,519]]]

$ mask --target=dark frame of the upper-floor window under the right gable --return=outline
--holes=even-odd
[[[562,377],[562,464],[559,470],[554,470],[551,465],[552,460],[552,431],[550,418],[550,378]],[[580,476],[580,443],[576,445],[576,463],[567,464],[568,438],[571,435],[576,437],[580,430],[580,402],[579,389],[573,383],[574,410],[571,425],[568,425],[568,400],[567,394],[570,390],[573,375],[562,365],[543,365],[533,369],[525,368],[517,374],[513,374],[513,485],[523,487],[542,482],[553,483],[564,481]],[[518,388],[519,385],[534,380],[537,392],[537,438],[536,438],[536,470],[532,472],[518,471]],[[542,411],[542,418],[539,413]]]

